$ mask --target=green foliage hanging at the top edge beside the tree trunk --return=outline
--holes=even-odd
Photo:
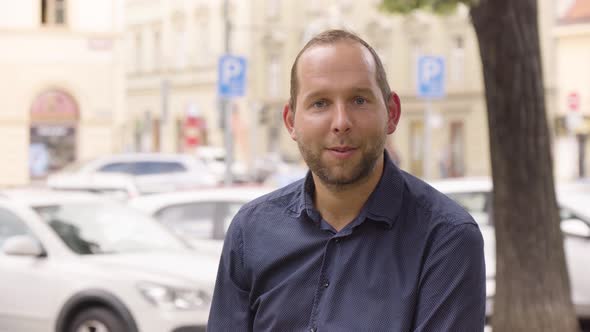
[[[408,14],[417,9],[437,14],[451,14],[459,4],[474,6],[477,0],[381,0],[379,9],[389,13]]]

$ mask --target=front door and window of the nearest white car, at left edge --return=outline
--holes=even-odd
[[[15,235],[36,238],[21,217],[0,204],[0,248]],[[0,249],[0,332],[54,330],[59,272],[50,265],[48,257],[7,255]]]

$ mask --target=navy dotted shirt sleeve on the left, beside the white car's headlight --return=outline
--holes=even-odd
[[[230,225],[223,244],[207,323],[208,332],[252,330],[244,241],[236,221]]]

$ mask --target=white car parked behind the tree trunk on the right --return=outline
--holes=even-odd
[[[496,271],[494,222],[490,218],[492,182],[489,178],[450,179],[431,183],[461,204],[476,220],[484,237],[488,276],[488,314],[492,314]],[[590,186],[558,185],[557,198],[572,300],[578,317],[590,319]]]

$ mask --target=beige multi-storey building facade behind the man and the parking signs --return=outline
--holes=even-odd
[[[247,58],[246,95],[232,101],[237,159],[298,158],[281,118],[290,66],[311,36],[346,28],[375,47],[402,99],[402,119],[391,137],[401,167],[426,178],[490,173],[479,49],[467,8],[450,16],[401,16],[380,12],[376,0],[228,2],[230,51]],[[191,153],[199,145],[224,145],[217,97],[217,62],[226,36],[223,5],[221,0],[127,0],[127,106],[134,123],[127,145],[132,149]],[[553,6],[551,0],[539,2],[549,114],[556,106]],[[445,98],[418,98],[416,65],[422,55],[444,57]],[[198,126],[190,128],[194,117]]]

